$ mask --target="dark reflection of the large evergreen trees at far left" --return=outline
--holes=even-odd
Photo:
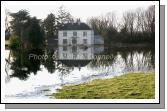
[[[17,77],[21,80],[26,80],[30,73],[34,75],[40,70],[42,63],[39,59],[29,58],[29,54],[42,55],[44,52],[42,49],[30,49],[30,50],[11,50],[13,61],[11,62],[11,69],[13,73],[10,77]]]

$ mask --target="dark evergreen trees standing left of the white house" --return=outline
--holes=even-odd
[[[69,22],[73,22],[73,18],[62,6],[56,15],[50,13],[44,20],[32,17],[24,9],[16,13],[7,10],[5,40],[10,41],[11,49],[43,48],[48,38],[57,37],[58,30]]]

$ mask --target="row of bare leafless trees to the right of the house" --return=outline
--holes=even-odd
[[[104,37],[105,45],[113,43],[155,43],[155,6],[123,13],[118,23],[115,13],[88,19],[91,28]]]

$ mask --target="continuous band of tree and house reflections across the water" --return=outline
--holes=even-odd
[[[70,74],[75,67],[78,67],[78,70],[82,67],[88,67],[103,74],[116,70],[118,66],[124,66],[125,72],[149,71],[155,67],[154,48],[105,48],[99,51],[101,53],[96,53],[94,47],[87,47],[86,50],[77,47],[75,51],[72,51],[71,47],[67,47],[65,51],[62,47],[58,47],[57,50],[28,49],[10,51],[12,60],[8,58],[6,61],[10,64],[12,70],[9,77],[17,77],[20,80],[27,80],[31,73],[36,75],[38,71],[42,70],[41,66],[44,66],[50,74],[54,74],[55,71],[60,72],[62,81],[63,76]],[[30,54],[47,55],[47,59],[30,58]],[[75,59],[73,59],[74,55],[72,54],[75,54]],[[63,55],[66,55],[65,58],[63,58]],[[82,56],[79,57],[78,55]],[[70,56],[72,57],[70,58]],[[119,65],[117,66],[117,64]],[[10,69],[6,69],[6,72]]]

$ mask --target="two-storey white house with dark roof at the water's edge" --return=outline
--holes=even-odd
[[[67,23],[58,31],[58,45],[93,45],[94,31],[85,23]]]

